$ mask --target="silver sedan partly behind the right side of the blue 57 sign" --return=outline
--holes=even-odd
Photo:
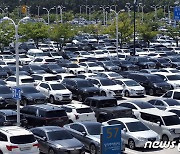
[[[144,147],[147,141],[159,141],[160,136],[134,118],[117,118],[103,123],[104,125],[121,124],[121,136],[130,149]]]

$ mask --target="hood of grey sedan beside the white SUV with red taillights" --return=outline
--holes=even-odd
[[[51,144],[56,145],[57,147],[63,147],[63,148],[80,148],[83,147],[83,144],[75,139],[67,139],[67,140],[56,140],[56,141],[49,141]]]

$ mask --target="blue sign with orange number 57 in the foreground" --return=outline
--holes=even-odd
[[[102,127],[101,154],[121,154],[121,125]]]

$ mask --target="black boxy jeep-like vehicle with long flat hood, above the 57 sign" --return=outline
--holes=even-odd
[[[112,118],[133,117],[132,109],[117,106],[117,100],[113,97],[88,97],[83,104],[90,106],[94,110],[99,122]]]

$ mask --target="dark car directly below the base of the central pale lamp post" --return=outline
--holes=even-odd
[[[107,71],[114,71],[114,72],[120,71],[120,67],[113,64],[111,61],[97,61],[96,63],[104,67],[104,69]]]

